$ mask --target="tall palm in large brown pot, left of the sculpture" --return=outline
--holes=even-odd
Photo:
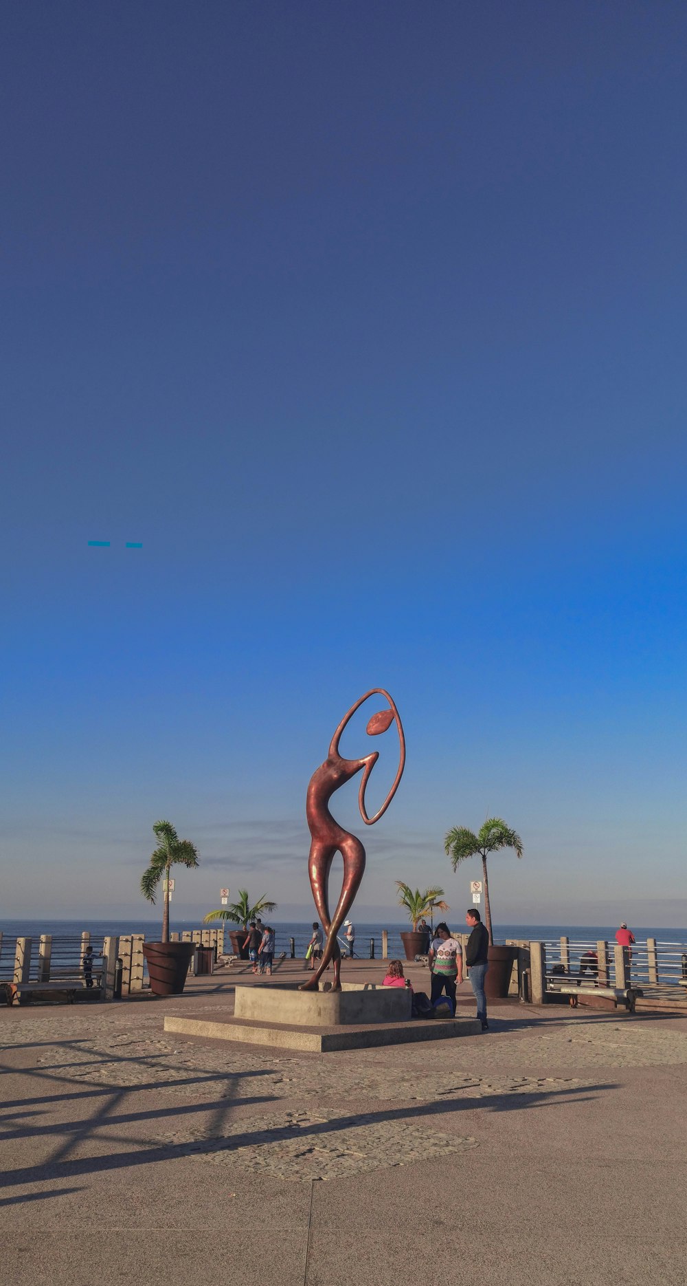
[[[143,950],[150,990],[155,995],[177,995],[184,990],[194,944],[170,941],[170,871],[177,864],[196,867],[198,850],[190,840],[178,838],[171,822],[155,822],[153,831],[158,846],[150,854],[148,871],[141,876],[141,892],[154,905],[155,890],[163,880],[162,937],[159,943],[144,943]]]

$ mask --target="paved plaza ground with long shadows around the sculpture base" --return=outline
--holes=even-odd
[[[164,1033],[236,981],[0,1011],[3,1281],[684,1281],[687,1017],[510,1001],[485,1035],[327,1055]]]

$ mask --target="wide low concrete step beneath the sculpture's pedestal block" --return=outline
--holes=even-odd
[[[334,994],[340,995],[338,992]],[[369,1049],[374,1046],[410,1044],[416,1040],[446,1040],[451,1037],[482,1034],[476,1019],[407,1019],[402,1022],[317,1028],[286,1022],[272,1022],[267,1026],[245,1019],[225,1019],[218,1022],[207,1019],[180,1019],[172,1015],[164,1019],[164,1030],[187,1037],[239,1040],[306,1053],[334,1053],[339,1049]]]

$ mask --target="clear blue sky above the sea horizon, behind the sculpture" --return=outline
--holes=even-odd
[[[145,914],[168,815],[178,914],[309,917],[384,685],[360,918],[492,811],[497,921],[683,926],[684,6],[3,26],[3,914]]]

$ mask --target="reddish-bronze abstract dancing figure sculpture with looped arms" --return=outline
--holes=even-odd
[[[343,759],[339,754],[339,741],[347,723],[356,714],[356,710],[360,710],[362,703],[375,693],[380,693],[385,697],[390,709],[380,710],[376,715],[372,715],[367,724],[367,733],[372,737],[378,736],[379,733],[387,732],[392,723],[396,721],[401,745],[401,757],[398,761],[398,772],[384,804],[374,817],[367,817],[365,809],[365,787],[367,786],[370,773],[379,759],[379,752],[374,750],[370,755],[365,755],[362,759]],[[348,714],[342,719],[334,737],[331,738],[329,755],[325,759],[325,763],[321,764],[320,768],[312,774],[311,783],[308,786],[306,815],[312,836],[308,872],[312,896],[315,898],[317,914],[322,921],[326,941],[320,967],[312,979],[303,983],[300,988],[303,992],[316,992],[318,989],[320,977],[330,962],[334,963],[333,990],[340,992],[342,950],[338,941],[338,932],[347,918],[351,907],[353,905],[353,899],[358,891],[362,872],[365,871],[365,849],[361,841],[356,838],[354,835],[351,835],[349,831],[344,831],[335,818],[333,818],[327,806],[329,801],[340,786],[349,782],[351,778],[362,769],[362,781],[358,791],[358,806],[365,824],[372,826],[389,808],[401,781],[404,764],[406,739],[403,737],[403,727],[401,724],[398,710],[384,688],[371,688],[370,692],[366,692],[365,696],[360,698],[360,701],[356,701],[354,706],[351,706]],[[344,878],[336,910],[334,912],[334,916],[330,917],[327,895],[329,873],[336,853],[340,853],[343,858]]]

